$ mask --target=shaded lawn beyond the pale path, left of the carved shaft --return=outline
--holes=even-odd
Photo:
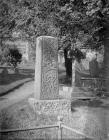
[[[5,69],[5,72],[3,70]],[[20,87],[24,83],[34,79],[34,67],[19,67],[18,73],[15,73],[11,67],[0,66],[0,95]]]

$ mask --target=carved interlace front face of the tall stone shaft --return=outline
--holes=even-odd
[[[41,98],[56,99],[58,96],[57,42],[44,38],[42,44]]]

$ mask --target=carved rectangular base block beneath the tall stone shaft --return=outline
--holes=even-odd
[[[35,100],[29,99],[35,112],[39,114],[68,114],[71,111],[70,100]]]

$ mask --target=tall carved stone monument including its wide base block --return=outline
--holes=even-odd
[[[54,37],[37,38],[35,93],[28,101],[39,115],[66,116],[71,111],[71,101],[59,96],[58,42]]]

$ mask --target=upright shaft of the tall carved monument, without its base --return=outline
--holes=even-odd
[[[35,98],[54,100],[58,94],[58,41],[40,36],[36,41]]]

